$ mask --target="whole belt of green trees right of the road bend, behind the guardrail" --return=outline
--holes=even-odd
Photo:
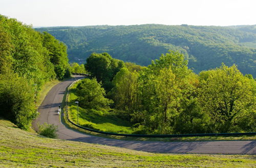
[[[84,108],[110,105],[123,111],[122,118],[139,128],[134,133],[256,131],[256,82],[236,65],[222,64],[197,75],[176,51],[162,54],[147,67],[115,59],[121,66],[113,67],[111,60],[108,53],[93,53],[87,59],[87,70],[96,78],[78,84],[78,100]],[[100,64],[91,64],[94,61]],[[105,87],[105,92],[101,82],[112,82],[112,87]]]

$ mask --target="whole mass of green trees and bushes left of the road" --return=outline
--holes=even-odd
[[[37,116],[42,86],[70,76],[67,47],[49,33],[39,33],[0,15],[0,116],[28,129]]]

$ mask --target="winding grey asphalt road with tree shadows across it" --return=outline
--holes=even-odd
[[[108,146],[115,146],[145,152],[155,153],[201,153],[201,154],[256,154],[256,141],[207,141],[207,142],[148,142],[148,141],[122,141],[96,137],[71,130],[63,125],[57,115],[58,106],[61,105],[66,88],[77,79],[62,81],[54,86],[38,111],[39,117],[34,120],[33,127],[38,130],[37,123],[49,123],[58,126],[58,138],[70,141],[80,141]],[[63,115],[63,114],[61,114]]]

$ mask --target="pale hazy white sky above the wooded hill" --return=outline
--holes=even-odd
[[[256,24],[256,0],[0,0],[0,14],[33,26]]]

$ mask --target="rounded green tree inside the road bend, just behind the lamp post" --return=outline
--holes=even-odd
[[[98,109],[101,107],[108,107],[112,102],[111,100],[104,98],[105,90],[101,88],[100,83],[96,78],[82,79],[77,87],[77,101],[79,105],[84,108]]]

